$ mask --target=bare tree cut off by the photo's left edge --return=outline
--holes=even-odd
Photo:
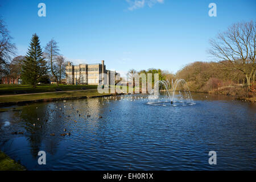
[[[0,73],[7,74],[7,63],[11,60],[11,56],[15,55],[16,47],[11,43],[13,39],[5,26],[5,22],[0,19]]]

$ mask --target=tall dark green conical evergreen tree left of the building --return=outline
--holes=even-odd
[[[47,62],[44,60],[39,37],[33,34],[24,64],[22,66],[22,82],[33,85],[48,72]]]

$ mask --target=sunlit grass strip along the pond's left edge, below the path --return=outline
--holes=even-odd
[[[1,102],[19,102],[19,101],[33,101],[33,100],[42,100],[49,98],[67,98],[67,97],[81,97],[81,96],[104,96],[108,93],[100,94],[97,90],[79,90],[72,92],[54,92],[54,93],[38,93],[38,94],[20,94],[14,96],[1,96]]]

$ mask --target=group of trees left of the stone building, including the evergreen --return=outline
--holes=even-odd
[[[16,46],[11,42],[3,20],[0,19],[0,77],[21,80],[22,84],[31,84],[36,88],[38,82],[54,80],[57,85],[65,77],[67,61],[59,53],[59,46],[51,39],[44,49],[40,46],[39,36],[32,35],[26,56],[15,56]],[[13,59],[11,57],[15,56]],[[1,79],[2,80],[2,79]]]

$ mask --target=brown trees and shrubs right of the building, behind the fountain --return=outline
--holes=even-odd
[[[159,80],[169,82],[183,78],[191,91],[255,97],[255,22],[235,23],[210,39],[209,44],[208,52],[214,61],[196,61],[176,73],[154,68],[130,69],[128,73],[159,73]]]

